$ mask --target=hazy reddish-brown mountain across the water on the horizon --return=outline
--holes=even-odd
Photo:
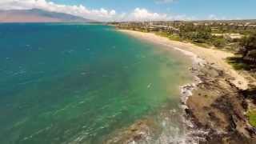
[[[0,10],[0,22],[96,22],[94,20],[40,9]]]

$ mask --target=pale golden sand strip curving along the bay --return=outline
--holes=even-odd
[[[151,33],[143,33],[143,32],[138,32],[133,30],[119,30],[119,31],[126,34],[130,34],[135,38],[141,38],[150,42],[155,42],[158,44],[168,46],[170,47],[170,49],[172,48],[172,49],[181,49],[181,50],[190,51],[196,54],[199,58],[206,60],[206,62],[213,64],[213,66],[217,67],[219,70],[224,70],[226,74],[230,74],[230,76],[234,78],[234,80],[232,80],[231,82],[233,82],[234,85],[237,86],[238,88],[242,90],[246,90],[248,88],[249,82],[246,80],[246,78],[242,74],[239,74],[238,71],[234,70],[232,66],[230,66],[225,60],[228,57],[234,56],[234,54],[232,53],[222,51],[222,50],[203,48],[200,46],[195,46],[194,44],[191,44],[191,43],[171,41],[168,38],[164,38]],[[184,53],[184,51],[182,53]]]

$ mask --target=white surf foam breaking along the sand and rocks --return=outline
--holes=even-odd
[[[198,70],[200,67],[206,65],[206,61],[203,60],[202,58],[199,58],[197,54],[194,54],[188,50],[182,50],[178,47],[170,46],[167,45],[164,42],[159,42],[161,45],[168,46],[170,48],[173,48],[174,50],[178,50],[182,52],[182,54],[185,54],[189,56],[192,59],[192,69],[193,70]],[[185,110],[188,108],[186,106],[186,101],[187,99],[192,96],[192,92],[194,89],[197,88],[197,86],[202,83],[201,79],[194,74],[194,82],[188,83],[184,86],[180,87],[181,90],[181,99],[182,99],[182,110]],[[172,112],[172,110],[170,110]],[[176,112],[175,110],[173,111],[174,113]],[[160,134],[157,140],[151,141],[152,138],[149,138],[146,142],[138,142],[138,143],[152,143],[154,144],[169,144],[169,143],[174,143],[174,144],[197,144],[199,141],[204,141],[200,136],[208,134],[207,131],[205,130],[198,130],[196,126],[192,122],[190,122],[189,119],[185,117],[185,115],[181,116],[182,118],[182,123],[185,125],[186,130],[182,132],[178,128],[178,126],[173,126],[170,124],[172,121],[170,118],[163,118],[162,119],[162,126],[166,128],[165,131]],[[151,140],[150,140],[151,139]],[[137,143],[137,142],[131,142],[131,143]]]

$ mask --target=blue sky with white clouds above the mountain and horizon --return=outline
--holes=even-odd
[[[32,8],[106,22],[256,18],[256,0],[0,0],[0,10]]]

